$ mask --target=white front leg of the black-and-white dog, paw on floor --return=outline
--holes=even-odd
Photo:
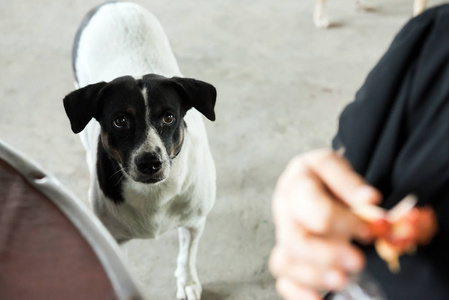
[[[196,272],[196,254],[203,234],[206,218],[195,227],[179,227],[179,254],[175,272],[178,291],[177,299],[199,300],[202,287]]]

